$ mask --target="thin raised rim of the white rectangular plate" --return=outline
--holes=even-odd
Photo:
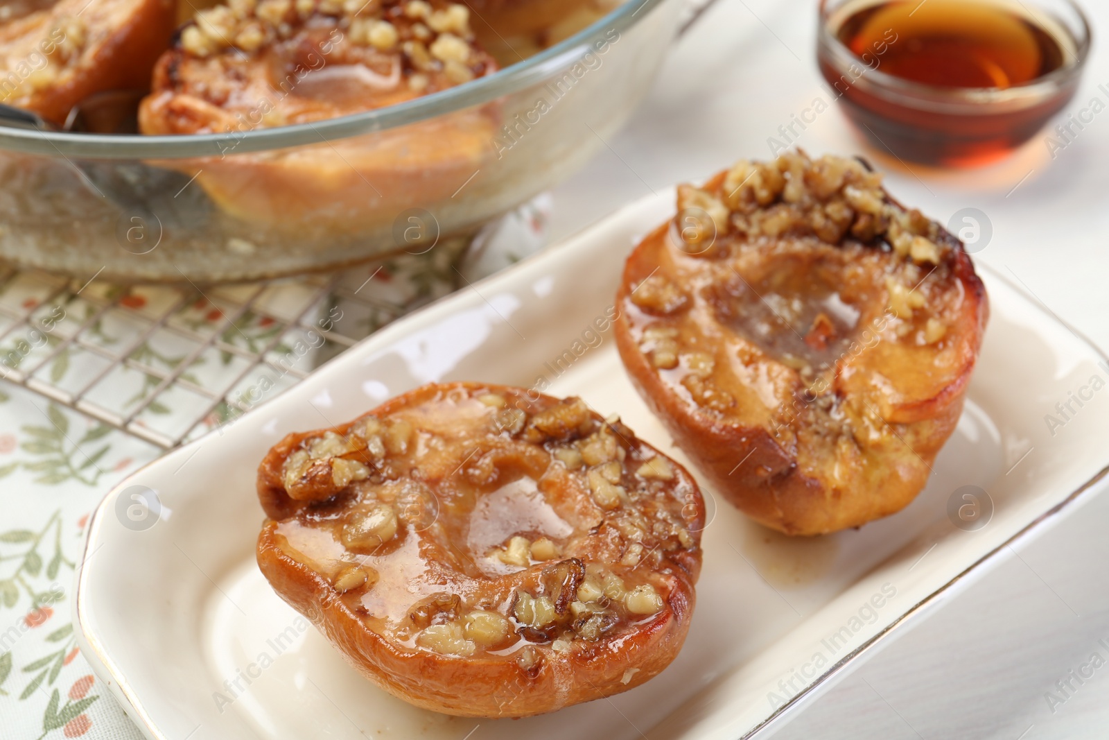
[[[668,186],[665,189],[658,191],[654,194],[647,195],[637,199],[630,203],[627,203],[621,207],[617,209],[615,211],[607,214],[606,216],[586,225],[584,227],[580,229],[573,234],[570,234],[559,240],[557,243],[549,245],[548,247],[541,250],[540,252],[529,255],[523,260],[520,260],[519,262],[512,264],[511,266],[498,273],[489,275],[488,277],[485,277],[480,281],[477,281],[476,283],[470,283],[469,285],[471,287],[474,286],[481,287],[495,280],[507,280],[512,274],[517,272],[522,272],[537,262],[557,259],[556,257],[557,253],[566,245],[577,242],[578,240],[584,237],[587,234],[591,233],[594,230],[602,229],[606,224],[619,221],[628,212],[638,209],[643,209],[648,203],[652,203],[655,201],[672,202],[674,190],[675,186]],[[1030,293],[1027,290],[1024,290],[1021,286],[1017,285],[1011,280],[1006,277],[1000,270],[997,270],[996,267],[993,267],[991,265],[980,261],[975,264],[975,270],[976,272],[989,273],[994,280],[1004,283],[1007,287],[1009,287],[1017,295],[1024,298],[1027,302],[1027,304],[1035,307],[1035,310],[1039,314],[1041,314],[1044,318],[1054,323],[1059,328],[1069,332],[1076,339],[1078,339],[1080,343],[1085,344],[1090,351],[1092,351],[1096,361],[1109,363],[1109,355],[1107,355],[1106,352],[1101,349],[1101,347],[1099,347],[1082,332],[1078,331],[1076,327],[1071,326],[1068,322],[1060,318],[1055,312],[1052,312],[1050,308],[1044,305],[1042,302],[1038,297],[1036,297],[1035,294]],[[401,316],[397,321],[389,324],[389,326],[383,328],[380,332],[375,333],[366,337],[358,344],[354,345],[352,349],[362,347],[367,343],[381,341],[378,337],[387,337],[389,334],[393,333],[389,332],[388,330],[393,330],[394,332],[400,331],[405,327],[407,323],[410,323],[411,321],[417,321],[423,314],[426,314],[429,311],[437,308],[445,303],[456,300],[459,295],[461,295],[461,293],[458,291],[449,293],[445,296],[441,296],[428,303],[427,305],[418,308],[417,311],[414,311],[413,313],[406,316]],[[316,371],[314,371],[312,375],[316,375],[321,371],[326,369],[328,366],[339,363],[346,354],[347,353],[343,353],[340,355],[337,355],[336,357],[333,357],[324,365],[316,368]],[[283,396],[286,391],[292,391],[293,387],[286,388],[282,393],[275,395],[274,398],[269,399],[269,402],[255,406],[240,418],[245,418],[247,415],[255,415],[262,413],[269,406],[271,403],[275,402],[277,398]],[[96,549],[99,549],[98,547],[96,549],[93,549],[90,553],[90,548],[92,547],[93,541],[95,540],[94,536],[98,535],[100,530],[100,523],[103,511],[108,507],[109,501],[111,499],[114,499],[119,494],[119,491],[131,485],[131,481],[141,476],[147,468],[154,465],[165,464],[167,460],[181,456],[186,452],[191,450],[193,447],[203,444],[204,442],[207,440],[210,436],[220,433],[221,433],[220,429],[213,429],[212,432],[208,432],[207,434],[192,440],[187,445],[179,447],[167,453],[166,455],[150,460],[149,463],[146,463],[145,465],[133,472],[131,475],[126,476],[124,479],[116,483],[114,486],[112,486],[112,488],[108,490],[108,493],[104,494],[100,503],[96,504],[96,507],[94,508],[89,519],[89,535],[85,539],[84,547],[82,548],[81,564],[78,569],[77,577],[74,579],[72,624],[74,626],[78,640],[81,642],[82,652],[85,652],[85,657],[87,659],[89,659],[89,663],[92,667],[93,671],[96,672],[100,678],[105,680],[105,683],[108,683],[109,689],[112,691],[115,698],[120,700],[121,703],[125,704],[124,709],[126,709],[126,707],[131,708],[133,714],[132,712],[125,711],[128,717],[133,718],[133,720],[140,719],[142,723],[140,724],[138,721],[135,721],[134,722],[135,726],[144,734],[146,734],[150,738],[153,738],[154,740],[170,740],[170,738],[155,726],[154,721],[147,713],[145,707],[139,700],[139,697],[135,693],[133,687],[131,687],[128,679],[122,675],[122,671],[119,669],[119,667],[115,666],[115,663],[106,655],[106,651],[99,643],[95,635],[91,629],[91,626],[89,625],[89,618],[88,615],[85,614],[88,608],[85,602],[85,594],[88,589],[85,582],[87,574],[84,566],[89,560],[91,560],[92,556],[95,555]],[[989,550],[988,553],[976,559],[974,562],[971,562],[966,568],[960,570],[958,574],[953,576],[950,580],[943,584],[940,587],[938,587],[937,589],[928,594],[926,597],[924,597],[923,599],[910,606],[908,609],[906,609],[901,616],[894,619],[894,621],[892,621],[885,628],[879,630],[876,635],[872,636],[865,642],[863,642],[862,645],[853,649],[851,652],[843,656],[835,663],[832,663],[820,676],[814,678],[808,686],[806,686],[804,689],[802,689],[796,695],[786,700],[786,702],[783,703],[781,707],[777,707],[773,712],[766,716],[756,726],[746,730],[742,736],[739,736],[736,740],[755,740],[756,736],[761,736],[765,731],[775,729],[776,726],[781,726],[782,722],[785,720],[786,716],[793,714],[796,711],[798,711],[801,709],[801,704],[811,697],[813,697],[814,692],[816,692],[817,690],[823,690],[832,679],[837,678],[845,670],[853,667],[853,663],[856,663],[859,660],[859,658],[865,656],[867,652],[874,651],[875,648],[877,648],[881,642],[888,640],[894,630],[896,630],[897,628],[903,628],[909,620],[919,619],[920,617],[923,617],[924,611],[930,608],[933,605],[935,605],[940,598],[948,595],[948,592],[953,591],[955,588],[963,585],[964,582],[969,582],[969,579],[971,577],[977,577],[981,575],[981,571],[985,570],[986,566],[991,564],[991,561],[998,558],[1001,550],[1010,548],[1014,544],[1027,539],[1034,534],[1038,534],[1039,530],[1046,529],[1051,524],[1056,524],[1059,520],[1060,515],[1064,514],[1065,509],[1069,509],[1075,503],[1088,498],[1090,495],[1089,491],[1092,488],[1095,488],[1100,481],[1106,479],[1107,476],[1109,476],[1109,454],[1107,454],[1103,463],[1105,464],[1097,473],[1095,473],[1089,479],[1087,479],[1086,481],[1080,484],[1077,488],[1075,488],[1072,491],[1070,491],[1065,498],[1056,503],[1046,511],[1037,515],[1031,521],[1029,521],[1019,530],[1014,533],[1008,539],[1000,543],[999,545],[997,545],[997,547],[995,547],[994,549]],[[92,658],[95,658],[95,660],[92,660]],[[110,677],[110,680],[105,679],[101,671],[106,672],[108,676]],[[195,730],[193,731],[195,732]]]

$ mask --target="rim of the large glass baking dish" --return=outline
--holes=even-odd
[[[603,18],[521,62],[494,74],[404,103],[314,123],[207,134],[88,134],[44,132],[0,126],[0,151],[51,158],[105,160],[176,160],[267,152],[308,144],[332,143],[360,134],[428,121],[488,103],[548,79],[593,50],[606,34],[624,31],[650,14],[648,6],[676,0],[625,0]]]

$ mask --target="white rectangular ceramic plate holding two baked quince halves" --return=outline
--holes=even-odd
[[[1103,474],[1109,393],[1100,388],[1109,364],[1098,366],[1105,361],[1086,341],[986,273],[993,316],[966,410],[927,488],[904,511],[859,530],[791,539],[718,505],[705,486],[712,518],[696,611],[681,655],[654,680],[518,721],[444,717],[381,692],[258,572],[258,462],[288,432],[348,420],[424,383],[475,379],[580,395],[685,463],[629,385],[611,335],[591,333],[634,240],[669,217],[672,203],[668,192],[633,204],[396,322],[108,495],[78,574],[78,633],[150,738],[462,740],[475,728],[475,740],[553,740],[568,728],[606,740],[750,737]],[[1070,404],[1065,418],[1057,403]],[[1047,414],[1061,425],[1049,428]],[[966,499],[974,489],[964,486],[988,494]],[[161,507],[145,519],[135,498],[144,488]],[[952,501],[991,504],[993,515],[965,531],[948,515]]]

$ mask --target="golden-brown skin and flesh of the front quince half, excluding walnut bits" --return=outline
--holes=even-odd
[[[608,425],[577,399],[559,402],[529,393],[474,383],[424,386],[336,427],[333,432],[338,436],[330,438],[332,444],[353,440],[354,449],[344,453],[345,458],[362,459],[373,469],[369,477],[338,494],[314,468],[288,473],[286,460],[297,450],[311,448],[313,440],[322,438],[319,433],[289,435],[258,468],[258,495],[268,517],[257,543],[262,572],[277,594],[307,616],[363,676],[418,707],[467,717],[526,717],[618,693],[665,668],[689,629],[693,585],[701,565],[700,531],[704,526],[704,505],[692,477],[676,463],[667,460],[662,468],[652,469],[662,469],[671,478],[647,481],[653,493],[643,497],[629,493],[630,501],[614,509],[599,508],[581,484],[587,470],[593,468],[571,469],[556,462],[556,450],[566,457],[569,448],[592,444],[586,457],[606,448],[617,456],[612,458],[615,460],[617,447],[597,443],[611,437],[624,450],[623,480],[629,485],[638,475],[635,466],[644,459],[665,458],[635,439],[619,422]],[[503,399],[505,406],[492,405],[494,396]],[[484,401],[479,404],[477,398]],[[517,424],[498,416],[498,408],[519,408],[527,416]],[[533,420],[547,418],[540,415],[550,409],[567,412],[574,423],[564,428],[547,425],[540,434],[540,425]],[[496,424],[490,425],[490,419]],[[365,426],[367,423],[369,426]],[[375,456],[372,450],[376,443],[358,436],[360,430],[369,437],[377,435],[385,440],[385,448],[394,452]],[[359,447],[363,443],[355,436],[366,444]],[[406,444],[408,453],[396,452]],[[573,455],[567,458],[573,460]],[[321,465],[319,459],[324,458],[313,465]],[[489,460],[492,463],[487,464]],[[327,464],[334,467],[334,458]],[[653,465],[662,464],[657,460]],[[503,555],[500,548],[495,547],[495,556],[486,557],[481,547],[472,546],[475,537],[485,530],[478,526],[476,511],[488,514],[495,523],[509,523],[502,534],[542,534],[526,527],[517,531],[513,527],[518,525],[510,524],[508,513],[491,505],[481,508],[481,501],[496,496],[505,480],[521,474],[539,481],[542,500],[572,531],[551,536],[553,553],[540,554],[533,546],[527,566],[497,565],[500,561],[496,558]],[[286,490],[291,484],[296,498]],[[395,500],[389,504],[398,517],[395,534],[386,533],[385,543],[368,554],[352,558],[352,551],[345,551],[342,562],[329,560],[327,551],[337,554],[343,548],[338,543],[346,536],[343,527],[349,524],[345,517],[369,500],[386,500],[386,491],[396,486],[435,491],[434,520],[428,521],[427,500],[417,497],[405,505]],[[500,506],[509,503],[501,501]],[[662,510],[670,514],[662,515]],[[654,549],[644,550],[638,567],[623,564],[622,558],[635,543],[618,527],[634,519],[637,513],[655,523],[680,516],[685,527],[678,539],[658,539],[651,534],[654,529],[648,531],[641,544]],[[339,534],[330,540],[329,533]],[[658,541],[652,543],[652,538]],[[322,539],[329,544],[319,545]],[[348,561],[373,570],[373,582],[340,592],[339,576],[350,567]],[[623,596],[612,597],[603,607],[612,621],[599,639],[586,639],[584,627],[558,616],[553,625],[529,627],[530,622],[520,621],[521,612],[515,611],[523,599],[520,594],[527,592],[537,598],[551,597],[552,609],[562,604],[562,608],[569,608],[567,614],[573,612],[584,604],[583,599],[591,598],[587,590],[601,571],[617,574],[627,588]],[[547,587],[552,575],[563,585],[572,581],[569,589],[559,591],[572,596],[551,596]],[[657,589],[658,610],[642,614],[640,609],[633,615],[628,611],[633,604],[628,595],[644,585]],[[456,598],[457,602],[451,601]],[[455,645],[455,655],[421,648],[424,632],[418,627],[425,622],[417,622],[414,615],[429,599],[448,605],[435,614],[431,625],[457,624],[458,615],[472,615],[467,610],[480,604],[481,609],[511,617],[512,631],[487,649],[472,642]],[[571,599],[577,600],[567,607]],[[604,597],[589,604],[602,602]],[[561,646],[564,649],[556,649],[558,640],[567,640]],[[533,660],[526,660],[525,651],[531,651],[528,655]]]

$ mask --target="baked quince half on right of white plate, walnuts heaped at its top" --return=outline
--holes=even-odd
[[[905,507],[955,429],[988,306],[962,243],[837,156],[678,190],[632,252],[620,356],[742,511],[792,535]]]

